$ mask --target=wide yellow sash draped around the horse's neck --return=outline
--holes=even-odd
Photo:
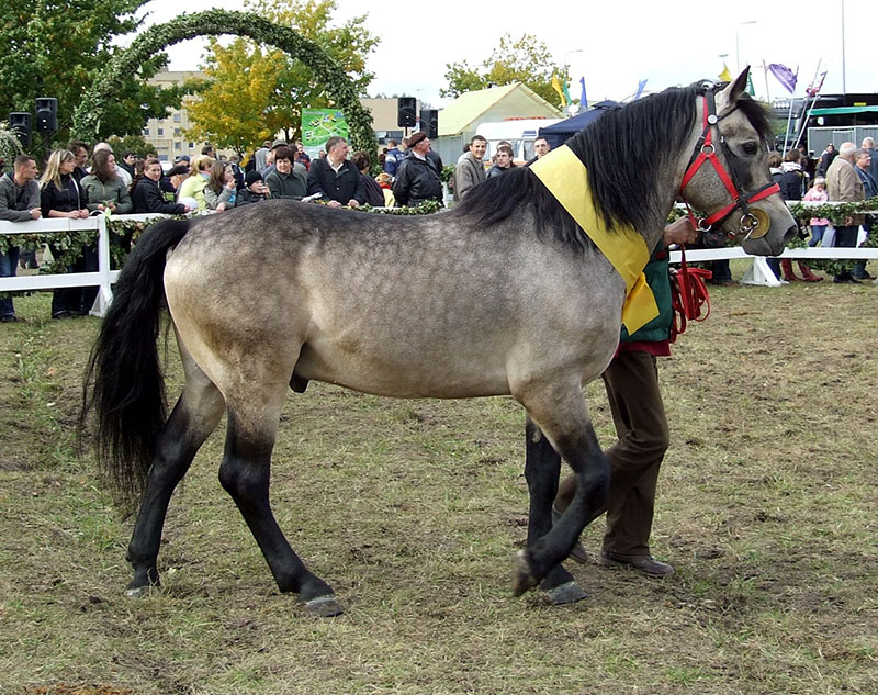
[[[530,166],[576,223],[612,264],[626,284],[622,323],[632,335],[658,315],[655,298],[646,284],[643,269],[650,260],[646,242],[630,226],[607,229],[604,217],[592,204],[588,171],[566,145],[553,149]]]

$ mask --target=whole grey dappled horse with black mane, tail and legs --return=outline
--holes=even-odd
[[[672,88],[569,141],[608,225],[633,226],[652,249],[682,195],[717,226],[746,234],[748,253],[783,250],[796,224],[770,186],[768,116],[745,82],[746,70],[724,88]],[[142,493],[128,594],[159,583],[171,493],[227,412],[219,480],[278,586],[317,615],[341,613],[269,506],[288,389],[317,380],[397,397],[511,394],[578,480],[552,526],[559,471],[527,471],[530,524],[515,593],[542,582],[558,603],[581,597],[561,562],[608,482],[583,383],[612,358],[626,289],[528,168],[488,179],[435,215],[279,200],[150,227],[101,326],[82,421],[95,411],[99,460],[122,491]],[[167,419],[157,348],[165,298],[185,373]]]

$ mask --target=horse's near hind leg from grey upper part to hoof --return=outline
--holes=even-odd
[[[308,610],[324,617],[342,613],[333,588],[312,573],[290,547],[269,504],[271,450],[286,384],[228,399],[228,435],[219,481],[232,495],[259,543],[282,592],[299,594]]]

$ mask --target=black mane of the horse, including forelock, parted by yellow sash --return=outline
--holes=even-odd
[[[566,145],[585,164],[594,204],[608,227],[645,228],[660,204],[656,187],[679,155],[695,126],[696,97],[701,82],[673,87],[623,107],[610,109],[567,139]],[[744,94],[736,107],[764,141],[770,136],[767,111]],[[573,217],[527,167],[518,167],[475,187],[452,213],[489,226],[508,218],[521,205],[533,209],[540,232],[554,229],[574,248],[589,245]]]

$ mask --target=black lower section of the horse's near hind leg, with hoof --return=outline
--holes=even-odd
[[[309,610],[320,616],[339,615],[333,588],[313,574],[290,547],[269,504],[271,450],[274,427],[248,431],[238,422],[234,408],[228,412],[228,435],[219,468],[219,482],[235,500],[250,531],[259,543],[274,581],[282,592],[299,594]]]

